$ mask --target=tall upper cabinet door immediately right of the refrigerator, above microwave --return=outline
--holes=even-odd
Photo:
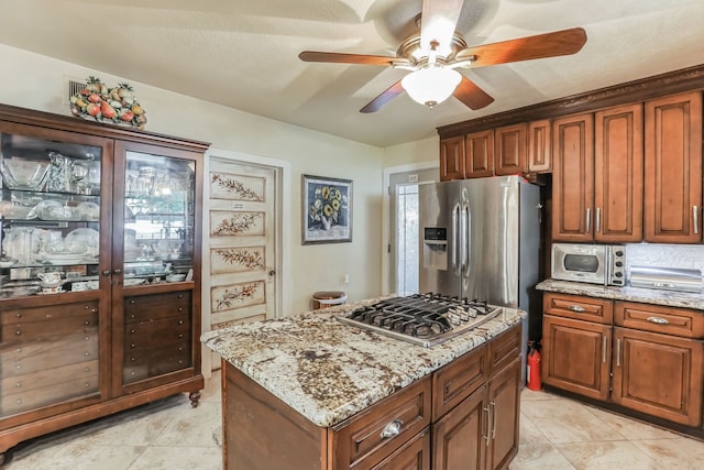
[[[552,122],[552,239],[591,241],[594,198],[594,118]]]

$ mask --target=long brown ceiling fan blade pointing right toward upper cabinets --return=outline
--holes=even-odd
[[[586,43],[586,32],[582,28],[556,31],[501,43],[468,47],[457,54],[457,61],[475,56],[471,67],[507,64],[578,53]]]

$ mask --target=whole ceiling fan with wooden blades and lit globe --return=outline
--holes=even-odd
[[[400,80],[370,101],[360,112],[375,112],[404,91],[432,108],[454,95],[471,109],[494,101],[457,68],[475,68],[510,62],[531,61],[578,53],[586,43],[582,28],[556,31],[493,44],[469,46],[454,31],[464,0],[424,0],[416,19],[420,32],[407,37],[395,57],[304,51],[304,62],[383,65],[410,70]]]

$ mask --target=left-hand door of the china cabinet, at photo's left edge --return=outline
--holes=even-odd
[[[99,400],[109,140],[0,125],[0,418]]]

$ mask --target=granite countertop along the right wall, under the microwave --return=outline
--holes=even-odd
[[[704,310],[702,293],[675,292],[642,287],[616,287],[598,284],[586,284],[571,281],[546,280],[536,285],[538,291],[561,294],[584,295],[587,297],[610,298],[614,300],[640,302],[645,304],[664,305]]]

